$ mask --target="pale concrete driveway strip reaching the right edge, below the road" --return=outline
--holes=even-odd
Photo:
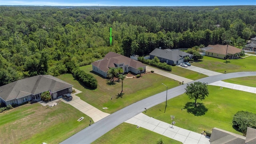
[[[223,82],[221,80],[217,81],[217,82],[210,83],[209,85],[221,86],[221,87],[225,87],[225,88],[231,88],[234,90],[242,90],[244,92],[252,92],[252,93],[256,94],[256,88],[254,88],[254,87],[242,86],[239,84],[232,84],[232,83],[228,83],[228,82]]]

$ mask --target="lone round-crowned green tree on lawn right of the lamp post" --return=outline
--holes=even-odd
[[[195,106],[197,99],[204,100],[205,96],[208,96],[209,94],[208,87],[204,82],[194,82],[192,84],[188,84],[185,90],[186,95],[188,95],[190,99],[195,100]]]

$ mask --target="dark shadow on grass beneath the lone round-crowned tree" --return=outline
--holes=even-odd
[[[202,116],[208,111],[208,108],[206,108],[203,103],[197,103],[196,105],[195,107],[194,102],[187,102],[184,108],[188,113],[194,114],[195,116]]]

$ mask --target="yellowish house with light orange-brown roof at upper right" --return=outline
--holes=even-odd
[[[236,59],[242,51],[241,49],[234,46],[221,44],[209,45],[200,49],[205,53],[206,56],[220,59]]]

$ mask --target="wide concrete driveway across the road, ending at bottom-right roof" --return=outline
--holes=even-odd
[[[140,126],[158,134],[167,136],[168,138],[178,140],[183,144],[210,144],[210,137],[208,136],[204,136],[190,130],[185,130],[183,128],[179,128],[178,126],[172,127],[172,124],[150,118],[142,113],[130,118],[129,120],[126,120],[125,122],[134,124],[134,128],[136,126]]]

